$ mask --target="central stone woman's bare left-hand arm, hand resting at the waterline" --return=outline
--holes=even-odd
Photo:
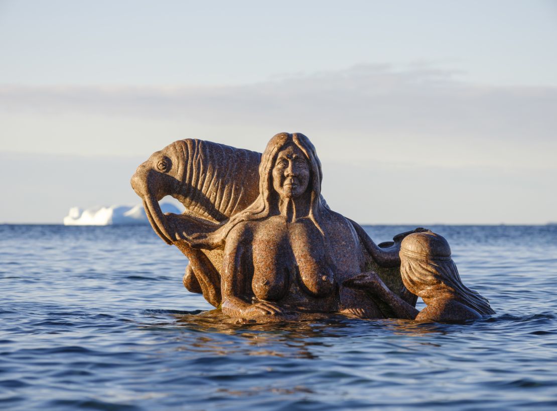
[[[228,234],[222,262],[222,312],[231,317],[256,317],[277,315],[283,310],[272,302],[261,301],[252,304],[246,301],[250,296],[246,290],[251,288],[245,272],[244,258],[246,229],[242,224],[234,227]]]

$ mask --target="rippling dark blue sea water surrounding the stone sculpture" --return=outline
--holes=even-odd
[[[150,227],[0,226],[0,408],[557,409],[557,226],[430,228],[495,316],[223,325]]]

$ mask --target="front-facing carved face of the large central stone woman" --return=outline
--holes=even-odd
[[[295,144],[279,151],[273,167],[273,188],[281,198],[295,198],[305,193],[310,180],[310,165]]]

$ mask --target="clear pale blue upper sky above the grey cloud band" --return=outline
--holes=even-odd
[[[245,84],[360,63],[557,86],[557,2],[2,1],[2,82]]]

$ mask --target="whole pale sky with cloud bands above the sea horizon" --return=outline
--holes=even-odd
[[[557,2],[0,0],[0,223],[134,205],[174,140],[281,131],[360,223],[555,222]]]

